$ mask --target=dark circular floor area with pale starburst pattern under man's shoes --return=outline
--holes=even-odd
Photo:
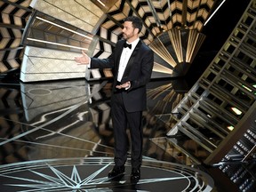
[[[0,167],[1,191],[211,191],[212,178],[182,164],[143,159],[141,177],[130,181],[131,163],[120,180],[109,180],[113,158],[36,160]]]

